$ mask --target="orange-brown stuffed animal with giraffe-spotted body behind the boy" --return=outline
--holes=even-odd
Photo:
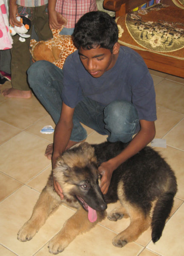
[[[77,49],[72,42],[71,35],[59,35],[63,27],[52,29],[53,38],[47,41],[31,40],[30,52],[33,61],[46,60],[63,68],[66,58]]]

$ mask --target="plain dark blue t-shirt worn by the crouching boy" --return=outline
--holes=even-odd
[[[86,71],[77,50],[66,59],[63,75],[62,99],[70,108],[75,108],[83,96],[102,106],[125,100],[135,106],[140,120],[156,120],[152,77],[141,56],[128,47],[120,47],[115,65],[99,78]]]

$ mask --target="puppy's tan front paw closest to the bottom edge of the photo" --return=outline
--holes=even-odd
[[[67,241],[67,239],[64,236],[62,237],[58,233],[49,242],[49,245],[48,245],[49,253],[52,253],[52,254],[61,253],[68,246],[68,244],[69,244],[69,242]]]

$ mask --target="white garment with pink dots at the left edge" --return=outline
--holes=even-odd
[[[13,40],[9,32],[9,19],[5,1],[0,0],[0,50],[10,49],[12,44]]]

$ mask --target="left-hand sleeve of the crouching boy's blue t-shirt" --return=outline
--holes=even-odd
[[[75,108],[82,99],[82,90],[78,74],[74,67],[75,65],[73,64],[72,58],[69,57],[66,59],[63,66],[62,100],[70,108]]]

